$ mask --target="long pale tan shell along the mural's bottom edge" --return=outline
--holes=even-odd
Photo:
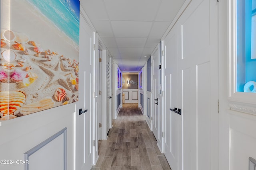
[[[50,109],[52,107],[54,107],[54,101],[52,100],[52,98],[46,97],[38,102],[22,106],[20,108],[20,113],[22,113],[23,115],[28,115],[30,113]]]

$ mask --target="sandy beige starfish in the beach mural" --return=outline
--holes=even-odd
[[[73,72],[62,71],[60,64],[61,61],[59,61],[53,68],[47,68],[39,65],[39,67],[50,77],[50,81],[46,84],[45,88],[48,88],[57,82],[60,86],[71,91],[67,76],[71,75]]]

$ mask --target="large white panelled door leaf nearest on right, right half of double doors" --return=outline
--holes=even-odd
[[[178,21],[180,170],[218,169],[217,35],[218,2],[192,1]]]

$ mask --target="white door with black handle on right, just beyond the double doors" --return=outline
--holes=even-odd
[[[159,86],[158,86],[158,51],[159,49],[157,48],[154,53],[152,54],[152,69],[153,69],[153,75],[152,75],[152,80],[153,80],[153,110],[152,110],[152,131],[156,137],[156,139],[159,138],[159,108],[158,108],[158,92],[159,92]]]

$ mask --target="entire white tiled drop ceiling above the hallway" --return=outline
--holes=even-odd
[[[184,1],[80,0],[80,4],[119,68],[140,71]]]

